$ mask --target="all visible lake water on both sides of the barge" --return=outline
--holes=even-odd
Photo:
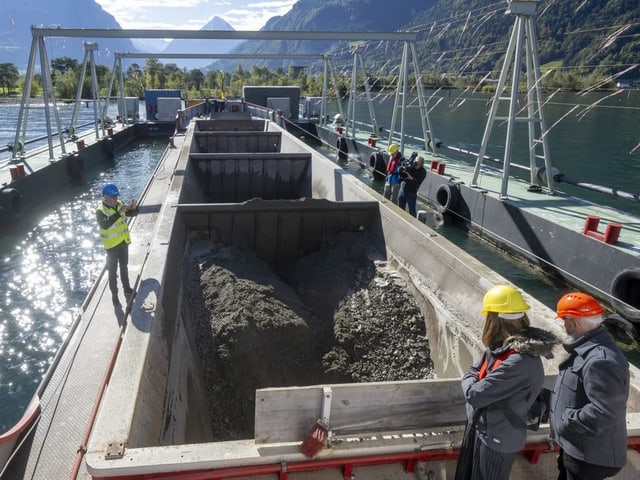
[[[475,95],[456,108],[459,93],[443,93],[444,99],[430,114],[432,127],[445,144],[477,152],[488,97]],[[599,98],[557,95],[546,107],[547,124],[554,125],[574,105],[587,106]],[[374,105],[378,124],[388,127],[392,102]],[[639,105],[640,92],[629,91],[603,102],[582,119],[575,115],[564,118],[549,134],[554,165],[572,178],[635,193],[640,180],[640,150],[630,152],[640,143]],[[0,146],[13,141],[18,109],[17,105],[0,104]],[[61,106],[61,118],[70,118],[71,109],[70,105]],[[42,109],[32,110],[34,132],[43,125],[37,112],[41,116]],[[358,105],[358,112],[358,119],[367,121],[364,103]],[[78,123],[91,120],[92,115],[92,108],[81,108]],[[407,133],[422,136],[417,108],[408,109],[407,119]],[[500,157],[503,132],[504,128],[494,134],[488,155]],[[33,136],[43,133],[40,130]],[[113,182],[124,198],[139,197],[166,144],[166,138],[148,139],[117,152],[115,164],[87,172],[86,185],[61,191],[58,198],[31,215],[28,223],[0,238],[0,432],[22,415],[103,268],[104,250],[94,219],[102,185]],[[514,158],[525,153],[516,148]],[[635,202],[571,185],[559,188],[640,215]],[[440,232],[543,303],[555,305],[558,286],[527,265],[454,227],[441,227]]]

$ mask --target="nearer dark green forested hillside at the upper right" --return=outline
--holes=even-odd
[[[420,32],[421,63],[453,73],[473,59],[467,71],[498,72],[515,22],[506,6],[441,0],[410,25]],[[639,6],[637,0],[541,0],[535,22],[540,63],[579,74],[615,73],[637,63]]]

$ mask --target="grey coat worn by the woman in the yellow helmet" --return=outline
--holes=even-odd
[[[487,447],[501,453],[518,452],[527,438],[527,411],[535,401],[544,382],[540,357],[551,357],[553,345],[559,343],[552,333],[530,327],[521,335],[496,350],[485,352],[482,358],[462,377],[462,392],[467,401],[467,416],[483,409],[477,422],[477,437]],[[485,357],[489,365],[504,351],[513,348],[495,370],[478,380]]]

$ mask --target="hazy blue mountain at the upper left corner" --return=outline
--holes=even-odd
[[[93,0],[21,0],[0,4],[0,63],[13,63],[24,71],[31,49],[31,25],[65,28],[121,28],[116,19]],[[113,63],[111,52],[137,51],[128,39],[49,38],[46,41],[49,60],[71,57],[84,58],[84,41],[97,42],[96,62]],[[36,59],[39,61],[39,57]]]

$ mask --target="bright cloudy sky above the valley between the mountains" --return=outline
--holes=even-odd
[[[220,17],[234,30],[259,30],[296,0],[96,0],[125,29],[200,30]]]

